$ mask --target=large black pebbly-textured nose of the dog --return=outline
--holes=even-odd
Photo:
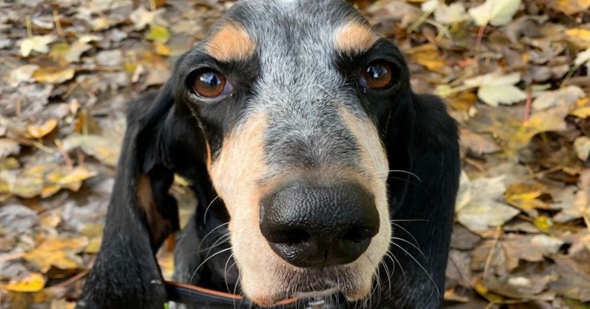
[[[375,198],[358,184],[293,184],[261,201],[260,230],[298,267],[349,264],[379,232]]]

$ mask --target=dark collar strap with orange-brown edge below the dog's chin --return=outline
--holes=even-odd
[[[252,308],[253,305],[241,295],[209,290],[180,282],[166,281],[166,291],[168,291],[169,301],[187,305],[232,305],[235,308]],[[297,300],[297,298],[290,298],[277,305],[290,305],[296,303]]]

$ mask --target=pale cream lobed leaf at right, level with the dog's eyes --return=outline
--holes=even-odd
[[[526,93],[514,86],[518,82],[520,82],[520,73],[501,75],[499,72],[494,72],[468,79],[465,85],[479,87],[477,96],[488,105],[498,106],[499,104],[511,105],[526,99]]]

